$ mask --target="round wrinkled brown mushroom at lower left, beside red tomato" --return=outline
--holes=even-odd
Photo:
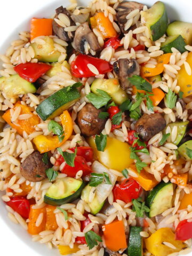
[[[45,164],[42,161],[43,154],[34,151],[20,165],[21,175],[28,181],[38,182],[46,178],[45,170],[51,167],[51,164]]]

